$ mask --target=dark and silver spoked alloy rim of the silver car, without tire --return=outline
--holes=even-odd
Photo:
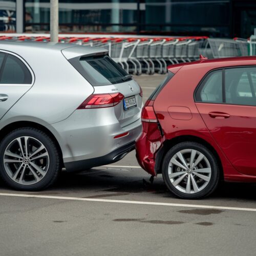
[[[16,183],[33,185],[42,180],[49,168],[49,154],[39,140],[23,136],[6,147],[4,166],[7,175]]]

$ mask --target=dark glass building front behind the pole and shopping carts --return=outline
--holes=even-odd
[[[256,0],[59,0],[60,33],[247,38]],[[0,0],[0,31],[50,30],[50,0]]]

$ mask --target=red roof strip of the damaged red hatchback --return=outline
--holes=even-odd
[[[228,58],[216,58],[216,59],[200,59],[192,62],[178,63],[170,65],[167,69],[173,73],[176,73],[180,68],[187,66],[196,66],[198,68],[205,66],[216,67],[228,67],[228,66],[243,66],[243,65],[256,65],[256,56],[242,56],[242,57],[228,57]]]

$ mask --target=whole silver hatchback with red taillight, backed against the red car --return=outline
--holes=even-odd
[[[116,162],[141,132],[142,91],[101,48],[0,42],[0,174],[14,189]]]

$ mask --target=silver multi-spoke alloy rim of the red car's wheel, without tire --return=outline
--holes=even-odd
[[[170,159],[168,176],[179,191],[186,194],[198,193],[210,181],[210,163],[205,155],[197,150],[181,150]]]

